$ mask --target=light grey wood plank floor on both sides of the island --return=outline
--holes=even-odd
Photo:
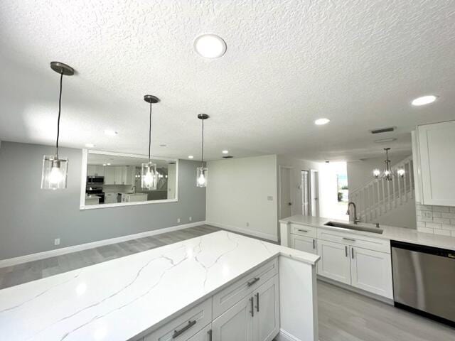
[[[0,269],[0,288],[218,231],[203,225]],[[455,341],[455,329],[318,282],[321,341]]]

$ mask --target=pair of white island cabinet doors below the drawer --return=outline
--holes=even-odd
[[[278,276],[213,321],[213,341],[272,341],[279,332]]]

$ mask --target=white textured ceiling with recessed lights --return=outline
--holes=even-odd
[[[62,146],[220,158],[283,153],[314,160],[410,151],[416,124],[455,119],[455,1],[1,1],[0,139],[53,144],[58,75]],[[217,33],[228,51],[200,58]],[[411,107],[422,94],[427,107]],[[314,119],[331,123],[315,126]],[[370,129],[396,126],[392,134]],[[118,136],[103,134],[105,129]],[[159,144],[166,144],[160,147]]]

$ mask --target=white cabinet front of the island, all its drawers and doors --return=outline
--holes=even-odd
[[[269,261],[137,341],[272,341],[279,332],[277,266]]]

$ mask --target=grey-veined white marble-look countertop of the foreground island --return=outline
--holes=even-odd
[[[0,290],[0,339],[130,340],[276,256],[319,256],[219,231]]]

